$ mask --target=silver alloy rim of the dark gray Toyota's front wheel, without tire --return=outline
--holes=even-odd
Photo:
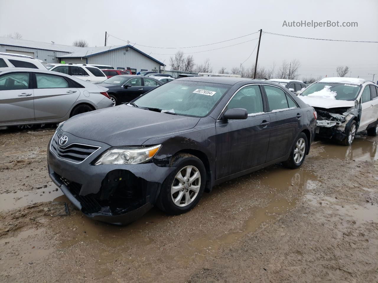
[[[201,188],[201,173],[195,166],[185,166],[178,171],[170,194],[175,205],[183,207],[192,203]]]

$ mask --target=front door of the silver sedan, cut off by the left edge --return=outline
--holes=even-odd
[[[0,124],[34,121],[32,82],[29,72],[0,75]]]

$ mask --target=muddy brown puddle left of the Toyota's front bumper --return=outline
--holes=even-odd
[[[0,194],[0,210],[20,208],[41,201],[52,201],[62,194],[62,191],[52,183],[47,188],[41,188],[37,191],[17,191],[15,193]]]

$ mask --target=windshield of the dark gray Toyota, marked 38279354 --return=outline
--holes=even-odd
[[[133,102],[138,107],[158,108],[178,115],[204,117],[217,105],[229,85],[172,81],[159,86]]]

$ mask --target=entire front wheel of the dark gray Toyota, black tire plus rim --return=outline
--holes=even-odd
[[[177,215],[188,212],[197,205],[206,184],[206,169],[202,161],[191,154],[175,155],[170,166],[176,169],[161,185],[156,206],[167,214]],[[197,176],[190,182],[185,178],[188,171],[191,173],[189,179],[192,179],[194,174]],[[196,189],[193,190],[194,188]],[[174,192],[175,190],[177,191]]]

